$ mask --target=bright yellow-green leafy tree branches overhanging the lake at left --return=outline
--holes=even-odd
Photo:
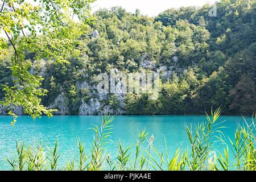
[[[32,75],[32,61],[26,52],[34,53],[33,59],[54,60],[55,63],[68,63],[69,57],[80,55],[77,39],[90,23],[89,5],[94,0],[35,0],[34,3],[18,0],[2,0],[0,5],[0,31],[6,39],[0,39],[0,53],[7,55],[9,44],[14,50],[11,58],[13,85],[5,85],[5,106],[21,105],[24,113],[32,118],[55,110],[41,104],[47,90],[40,88],[42,76]],[[79,19],[79,22],[73,20]],[[16,115],[11,111],[14,122]]]

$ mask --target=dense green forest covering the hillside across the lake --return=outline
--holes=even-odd
[[[156,17],[122,7],[98,10],[79,36],[78,56],[31,61],[30,73],[43,76],[42,104],[56,114],[202,114],[222,106],[225,114],[256,111],[256,1],[222,0],[212,5],[169,9]],[[44,35],[39,35],[44,36]],[[60,42],[61,44],[61,42]],[[10,43],[9,43],[10,46]],[[13,85],[11,55],[0,56],[2,85]],[[63,52],[68,54],[68,52]],[[157,100],[147,94],[99,94],[100,73],[164,71]],[[0,114],[6,113],[6,107]],[[15,112],[22,113],[16,107]]]

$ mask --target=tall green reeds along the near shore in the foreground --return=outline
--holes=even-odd
[[[238,126],[234,133],[234,141],[228,138],[232,148],[228,147],[222,138],[225,135],[221,132],[221,123],[217,122],[221,110],[212,111],[211,115],[206,114],[207,122],[198,125],[185,126],[190,146],[178,148],[174,156],[168,155],[166,151],[158,151],[154,146],[154,137],[148,136],[145,130],[138,133],[135,152],[131,146],[124,146],[121,142],[117,146],[117,156],[111,156],[105,148],[108,138],[112,134],[112,121],[114,117],[102,118],[100,126],[94,126],[93,143],[89,154],[84,151],[82,142],[78,139],[77,146],[79,155],[65,166],[59,167],[60,158],[59,144],[49,147],[45,152],[42,142],[37,147],[24,147],[24,142],[16,142],[16,158],[7,159],[13,170],[246,170],[256,169],[255,150],[255,123],[245,122],[245,126]],[[225,146],[223,151],[214,148],[215,142],[222,142]],[[217,151],[216,156],[211,156],[212,151]],[[234,156],[234,163],[230,163],[231,152]],[[48,155],[45,155],[45,154]]]

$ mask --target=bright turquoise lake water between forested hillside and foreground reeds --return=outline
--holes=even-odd
[[[45,145],[53,146],[56,138],[60,144],[60,162],[64,164],[69,156],[77,152],[77,137],[84,143],[86,150],[90,149],[93,140],[92,124],[98,125],[101,116],[53,116],[42,117],[33,121],[30,117],[20,116],[15,127],[10,125],[12,118],[0,116],[0,170],[10,169],[6,157],[14,155],[15,140],[23,140],[26,144],[35,144],[41,139]],[[246,117],[251,121],[250,117]],[[185,123],[195,126],[199,122],[206,121],[204,115],[150,115],[150,116],[117,116],[113,121],[113,134],[108,144],[108,151],[117,152],[117,142],[120,139],[125,144],[131,144],[135,150],[138,131],[146,128],[148,137],[154,135],[154,144],[159,151],[165,151],[164,137],[168,146],[168,153],[172,156],[180,146],[189,147],[185,131]],[[226,126],[222,131],[226,136],[234,138],[234,130],[238,123],[243,123],[239,116],[222,116],[218,122],[225,121],[221,125]],[[223,145],[216,146],[222,150]],[[230,150],[231,153],[231,150]],[[113,154],[114,155],[114,154]]]

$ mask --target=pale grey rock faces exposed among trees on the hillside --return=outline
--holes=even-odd
[[[94,32],[94,36],[98,36],[97,32]],[[140,66],[146,69],[152,69],[159,73],[160,78],[162,80],[167,80],[172,76],[174,66],[167,66],[158,64],[156,65],[154,61],[149,61],[146,59],[147,57],[143,57],[142,61],[140,62]],[[173,61],[178,61],[176,57],[173,57]],[[34,63],[33,68],[31,69],[31,72],[37,72],[40,75],[44,74],[44,64],[45,61],[39,61],[38,63]],[[42,69],[37,69],[38,65]],[[82,72],[84,70],[81,70]],[[114,73],[116,74],[116,82],[115,84],[117,87],[115,88],[115,97],[114,97],[114,105],[110,104],[110,99],[113,98],[113,94],[110,93],[99,93],[97,90],[97,81],[91,78],[88,73],[84,72],[82,74],[80,81],[77,81],[75,83],[76,91],[77,93],[80,92],[81,98],[77,98],[78,102],[75,106],[71,106],[71,101],[69,101],[69,98],[67,97],[67,90],[64,90],[63,88],[60,88],[60,94],[57,95],[55,100],[48,106],[49,109],[57,109],[56,113],[54,114],[60,114],[60,115],[68,115],[68,114],[79,114],[79,115],[101,115],[101,114],[126,114],[125,111],[125,101],[124,98],[126,94],[123,94],[121,91],[121,86],[118,86],[118,84],[121,84],[120,81],[118,81],[118,69],[114,70]],[[82,90],[84,89],[84,90]],[[81,90],[83,92],[81,92]],[[83,95],[84,94],[84,95]],[[22,115],[23,109],[21,106],[13,107],[13,111],[15,114]],[[75,111],[75,113],[74,113]],[[7,107],[3,107],[0,105],[0,115],[7,114]]]

